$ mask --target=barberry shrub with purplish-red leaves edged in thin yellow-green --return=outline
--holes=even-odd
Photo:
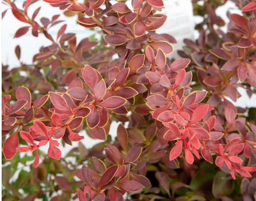
[[[234,102],[256,89],[256,1],[232,0],[242,11],[225,33],[227,0],[192,0],[199,37],[177,59],[175,38],[158,34],[164,0],[44,0],[96,30],[81,41],[59,15],[28,14],[36,1],[3,0],[24,23],[14,38],[51,45],[30,65],[2,65],[2,200],[253,201],[256,109]],[[87,149],[83,130],[99,143]]]

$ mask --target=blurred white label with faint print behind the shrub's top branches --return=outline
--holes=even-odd
[[[172,44],[174,51],[170,57],[177,58],[177,50],[181,50],[185,45],[185,38],[193,39],[193,7],[191,0],[164,0],[164,8],[160,13],[167,16],[167,20],[157,33],[167,33],[172,35],[177,44]]]

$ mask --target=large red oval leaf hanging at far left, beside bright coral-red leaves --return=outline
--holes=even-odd
[[[8,137],[3,143],[2,152],[4,157],[7,160],[12,159],[15,156],[18,147],[19,147],[19,138],[18,138],[18,133],[15,132],[10,137]]]

